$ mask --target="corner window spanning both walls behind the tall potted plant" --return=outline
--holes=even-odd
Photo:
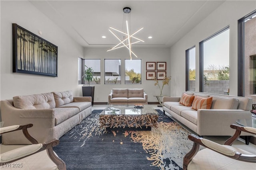
[[[84,69],[86,66],[88,68],[92,67],[93,81],[90,84],[100,84],[100,59],[82,59],[78,57],[78,84],[88,84],[87,81],[84,81]]]

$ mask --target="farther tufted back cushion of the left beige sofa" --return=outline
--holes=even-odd
[[[72,91],[66,92],[53,92],[56,107],[60,107],[64,104],[74,102]]]

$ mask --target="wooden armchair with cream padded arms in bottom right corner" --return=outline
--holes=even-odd
[[[224,145],[196,135],[188,135],[188,139],[193,141],[194,145],[184,156],[183,170],[256,170],[255,154],[231,146],[238,139],[241,131],[256,134],[256,129],[236,124],[232,124],[230,127],[236,131]],[[206,149],[198,151],[200,145]]]

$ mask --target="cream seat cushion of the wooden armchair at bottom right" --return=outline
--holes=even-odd
[[[241,149],[238,152],[252,154]],[[200,150],[188,164],[188,170],[255,170],[255,168],[255,163],[234,160],[210,149]]]

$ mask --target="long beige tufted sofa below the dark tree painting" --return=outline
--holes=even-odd
[[[1,101],[4,127],[32,123],[28,132],[39,143],[59,139],[92,113],[91,97],[73,97],[72,91],[14,96]],[[3,144],[31,144],[15,131],[2,135]]]

